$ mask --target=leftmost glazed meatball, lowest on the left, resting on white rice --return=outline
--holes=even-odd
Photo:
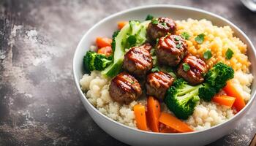
[[[114,101],[129,104],[142,94],[140,84],[132,75],[122,72],[111,80],[109,93]]]

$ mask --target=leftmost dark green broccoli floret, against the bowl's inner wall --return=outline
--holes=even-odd
[[[94,59],[96,57],[97,53],[89,50],[86,52],[86,55],[83,57],[83,66],[86,70],[86,72],[91,72],[95,70],[94,67]]]

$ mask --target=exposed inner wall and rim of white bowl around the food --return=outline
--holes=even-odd
[[[214,15],[210,12],[206,12],[200,9],[194,9],[189,7],[181,6],[148,6],[148,7],[138,7],[135,9],[129,9],[123,12],[118,12],[115,15],[111,15],[108,18],[101,20],[99,23],[94,25],[80,40],[80,43],[75,51],[75,56],[73,60],[73,73],[75,78],[75,84],[79,90],[79,93],[83,94],[80,90],[79,80],[83,76],[83,55],[86,51],[89,50],[91,45],[94,45],[96,37],[111,37],[113,31],[117,29],[117,22],[120,20],[145,20],[146,15],[151,14],[155,17],[170,17],[173,20],[187,20],[187,18],[192,19],[207,19],[216,26],[230,26],[234,31],[234,36],[238,37],[247,45],[247,55],[249,56],[249,61],[252,65],[250,71],[254,77],[256,77],[256,58],[255,58],[255,48],[252,45],[252,42],[246,37],[246,35],[233,23],[230,23],[228,20],[221,18],[217,15]],[[248,104],[251,104],[255,96],[255,80],[252,82],[252,97]],[[84,100],[89,102],[86,97],[83,95]],[[248,107],[248,105],[246,105]],[[243,110],[241,111],[243,112]],[[241,114],[239,112],[237,115]]]

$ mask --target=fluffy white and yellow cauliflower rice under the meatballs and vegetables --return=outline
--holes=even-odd
[[[189,33],[190,39],[187,41],[189,53],[203,58],[203,53],[206,50],[211,50],[212,57],[206,61],[208,67],[213,66],[219,61],[230,65],[235,70],[235,77],[232,82],[236,88],[242,93],[244,101],[250,99],[250,85],[253,80],[252,74],[249,74],[250,62],[246,56],[246,45],[240,39],[233,37],[233,31],[229,26],[217,27],[213,26],[208,20],[182,20],[176,21],[178,34],[186,31]],[[197,45],[194,41],[198,34],[206,34],[205,41],[201,45]],[[232,48],[234,55],[230,60],[225,59],[225,52],[228,48]],[[137,128],[135,123],[135,115],[133,107],[135,104],[146,105],[146,98],[142,97],[137,101],[132,101],[129,105],[118,104],[110,97],[108,88],[110,78],[102,77],[98,71],[93,71],[91,74],[84,74],[80,80],[82,91],[86,98],[94,107],[107,115],[109,118],[123,123],[124,125]],[[170,112],[165,104],[161,105],[162,110]],[[171,113],[171,112],[170,112]],[[200,101],[195,107],[193,115],[187,120],[184,120],[194,130],[203,130],[225,122],[233,117],[233,110],[215,102]]]

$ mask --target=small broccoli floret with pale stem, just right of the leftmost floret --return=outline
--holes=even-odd
[[[95,69],[98,71],[102,71],[112,62],[112,56],[107,57],[106,55],[97,54],[94,59]]]

